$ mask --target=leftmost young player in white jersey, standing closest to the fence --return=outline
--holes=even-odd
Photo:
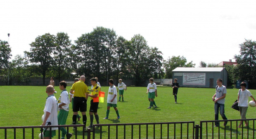
[[[54,96],[54,88],[52,85],[46,87],[47,98],[45,102],[44,111],[44,121],[42,125],[58,125],[58,108],[57,108],[57,99]],[[56,130],[58,128],[52,128],[52,137],[56,135]],[[50,128],[45,128],[43,131],[44,139],[50,139]]]

